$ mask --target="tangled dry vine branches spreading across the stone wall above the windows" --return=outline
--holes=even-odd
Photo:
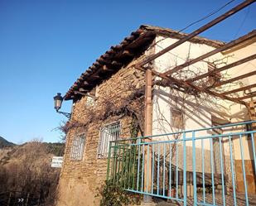
[[[144,93],[145,88],[137,89],[133,84],[128,83],[126,91],[128,95],[119,96],[118,94],[109,96],[100,96],[94,105],[85,105],[83,111],[86,119],[71,119],[60,130],[67,133],[71,128],[88,127],[91,122],[104,121],[110,116],[117,116],[118,119],[123,116],[133,117],[138,122],[139,130],[143,133],[143,116],[144,116]]]

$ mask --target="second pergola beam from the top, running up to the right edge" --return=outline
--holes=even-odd
[[[176,67],[174,67],[171,70],[167,70],[167,72],[165,72],[164,74],[166,75],[171,75],[189,65],[193,65],[196,62],[199,62],[200,60],[205,60],[205,58],[210,57],[212,55],[215,55],[217,53],[220,53],[223,50],[228,50],[229,48],[231,48],[232,46],[236,46],[239,45],[240,43],[244,42],[244,41],[248,41],[251,38],[254,38],[254,36],[256,36],[256,30],[251,31],[249,34],[239,37],[239,39],[234,40],[234,41],[230,41],[228,44],[225,44],[224,46],[220,46],[219,48],[215,49],[215,50],[211,50],[210,52],[206,53],[205,55],[200,55],[199,57],[196,57],[196,59],[193,60],[188,60],[186,61],[184,64],[182,65],[177,65]]]

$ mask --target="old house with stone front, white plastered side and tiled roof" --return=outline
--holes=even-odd
[[[66,125],[68,132],[60,175],[58,205],[99,205],[100,198],[95,195],[106,180],[109,141],[144,135],[145,72],[135,69],[134,65],[184,36],[186,34],[171,29],[140,26],[119,45],[111,46],[101,55],[65,94],[65,100],[73,101],[73,108],[70,121]],[[251,52],[255,46],[254,42],[250,41],[226,53],[210,56],[179,75],[194,78],[195,74],[208,71],[211,63],[232,63],[238,58],[241,59],[243,54]],[[173,65],[180,65],[223,45],[225,43],[222,41],[194,37],[147,66],[157,72],[164,72]],[[251,64],[256,65],[256,62]],[[238,71],[243,73],[244,67],[236,68],[234,73],[238,74]],[[205,101],[207,103],[200,104],[196,102],[196,98],[184,98],[179,90],[173,93],[173,88],[167,87],[159,78],[154,77],[153,80],[153,135],[249,119],[239,104],[222,100],[218,102],[217,108],[216,103],[209,106]],[[254,79],[246,79],[244,84],[252,81]],[[244,111],[244,115],[235,115],[238,109]],[[202,132],[201,135],[205,133]],[[189,151],[190,145],[187,147]],[[200,148],[200,144],[197,147]],[[248,155],[247,159],[251,160],[250,158]],[[241,158],[237,157],[236,160]],[[190,165],[188,170],[189,168]]]

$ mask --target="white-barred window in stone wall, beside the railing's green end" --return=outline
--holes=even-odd
[[[120,131],[120,122],[115,122],[101,128],[99,134],[98,158],[108,156],[109,141],[119,140]]]

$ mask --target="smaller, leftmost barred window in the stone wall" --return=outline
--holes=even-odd
[[[71,148],[71,160],[82,160],[85,148],[85,134],[75,137]]]

